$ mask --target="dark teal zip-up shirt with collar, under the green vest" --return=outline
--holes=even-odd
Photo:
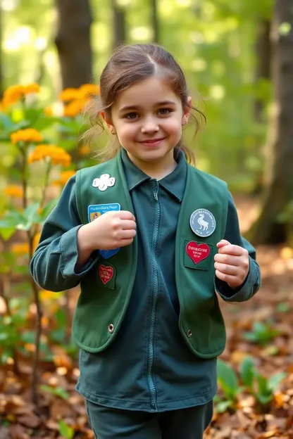
[[[121,157],[137,219],[137,274],[127,312],[111,346],[97,353],[80,350],[77,390],[92,402],[116,409],[163,412],[202,405],[216,393],[216,358],[201,359],[182,341],[175,272],[170,269],[175,264],[177,219],[185,193],[185,156],[180,152],[175,170],[159,182],[139,170],[125,151]],[[73,177],[44,224],[36,252],[35,274],[49,290],[77,285],[99,263],[94,252],[80,272],[75,270],[76,234],[81,222],[75,193]],[[240,236],[231,196],[224,237],[249,250],[251,267],[242,288],[234,291],[215,279],[216,290],[230,302],[247,300],[259,286],[258,265],[254,249]],[[113,287],[113,282],[107,285]],[[113,292],[108,288],[108,293]]]

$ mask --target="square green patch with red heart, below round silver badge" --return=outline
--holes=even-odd
[[[213,262],[213,245],[185,240],[183,264],[192,269],[209,270]]]

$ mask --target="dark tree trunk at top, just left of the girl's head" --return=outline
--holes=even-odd
[[[59,28],[55,43],[61,65],[62,87],[92,82],[89,0],[56,0]]]

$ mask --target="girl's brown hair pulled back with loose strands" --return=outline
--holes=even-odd
[[[180,98],[182,107],[188,106],[189,96],[185,75],[173,56],[157,44],[134,44],[119,46],[114,51],[110,60],[106,64],[100,79],[100,96],[94,98],[91,105],[86,110],[89,117],[91,128],[83,134],[82,139],[92,141],[96,134],[104,132],[104,122],[101,112],[111,120],[111,106],[120,93],[133,84],[151,77],[153,75],[163,75],[174,93]],[[204,114],[196,107],[192,109],[199,115],[201,120],[206,122]],[[197,117],[192,115],[196,125],[195,134],[199,131],[200,123]],[[118,153],[120,145],[118,142],[111,142],[108,148],[99,151],[98,157],[101,161],[110,160]],[[180,139],[177,148],[182,149],[189,163],[194,164],[194,153]]]

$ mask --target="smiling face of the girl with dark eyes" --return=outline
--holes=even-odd
[[[188,118],[189,107],[182,108],[180,98],[154,76],[121,91],[108,126],[138,167],[165,168],[174,163],[173,149]]]

